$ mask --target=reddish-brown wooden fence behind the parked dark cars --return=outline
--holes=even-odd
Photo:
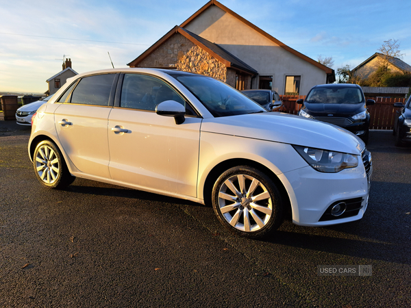
[[[288,114],[297,114],[302,105],[297,104],[297,99],[305,99],[305,95],[280,95],[281,100],[286,107],[284,112]],[[406,99],[384,99],[382,97],[366,97],[366,99],[373,99],[375,105],[368,107],[371,119],[370,129],[393,129],[395,115],[399,108],[394,107],[395,102],[404,103]]]

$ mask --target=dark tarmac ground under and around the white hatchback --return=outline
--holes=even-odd
[[[188,201],[84,179],[42,188],[28,138],[0,120],[0,307],[411,307],[411,148],[390,131],[370,133],[362,220],[286,220],[268,240],[236,238]]]

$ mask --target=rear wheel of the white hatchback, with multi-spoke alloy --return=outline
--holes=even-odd
[[[64,162],[62,153],[49,140],[37,144],[33,160],[36,177],[47,188],[61,189],[75,180]]]

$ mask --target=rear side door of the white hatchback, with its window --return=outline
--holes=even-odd
[[[58,99],[62,105],[54,114],[58,138],[75,167],[109,179],[107,124],[116,79],[116,74],[82,78]]]

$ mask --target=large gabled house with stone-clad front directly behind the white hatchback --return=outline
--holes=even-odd
[[[185,70],[219,78],[238,90],[307,94],[335,73],[211,0],[127,64]]]

